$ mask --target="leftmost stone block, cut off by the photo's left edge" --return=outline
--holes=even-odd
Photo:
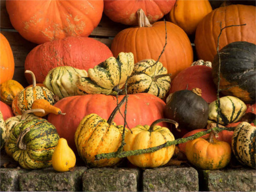
[[[26,173],[25,169],[1,168],[0,189],[1,191],[19,191],[19,175]]]

